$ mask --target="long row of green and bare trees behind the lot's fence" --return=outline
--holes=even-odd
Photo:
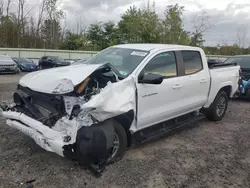
[[[4,4],[5,2],[5,4]],[[250,53],[240,44],[204,47],[204,32],[214,25],[206,12],[193,16],[192,31],[184,28],[184,6],[166,5],[164,17],[155,11],[155,4],[148,1],[144,8],[132,6],[118,23],[110,20],[95,22],[73,31],[62,25],[65,12],[58,7],[59,0],[41,0],[34,16],[27,0],[0,0],[0,47],[46,48],[64,50],[102,50],[122,43],[163,43],[203,47],[211,55],[235,55]],[[15,6],[15,10],[11,5]],[[84,23],[77,23],[83,24]],[[244,33],[239,41],[244,42]]]

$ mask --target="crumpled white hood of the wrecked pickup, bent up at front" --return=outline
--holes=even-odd
[[[102,64],[82,64],[37,71],[23,76],[19,84],[31,90],[48,94],[72,92],[74,86],[81,83]]]

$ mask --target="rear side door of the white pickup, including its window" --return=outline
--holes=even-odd
[[[210,74],[203,66],[199,51],[181,51],[184,75],[181,77],[181,99],[184,112],[200,109],[207,101]],[[184,113],[183,112],[183,113]]]

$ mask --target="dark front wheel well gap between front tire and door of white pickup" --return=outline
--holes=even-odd
[[[126,134],[127,134],[128,147],[130,147],[132,144],[132,135],[131,135],[129,129],[130,129],[130,126],[134,120],[134,111],[130,110],[127,113],[124,113],[124,114],[121,114],[119,116],[114,117],[114,119],[118,123],[120,123],[123,126],[123,128],[125,129]]]

